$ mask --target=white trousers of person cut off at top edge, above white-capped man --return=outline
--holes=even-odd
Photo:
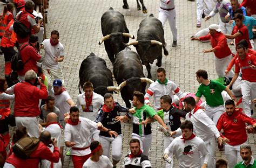
[[[205,4],[205,16],[212,11],[212,0],[197,0],[197,23],[201,23],[201,18]]]

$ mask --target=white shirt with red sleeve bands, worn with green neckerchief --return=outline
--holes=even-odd
[[[145,104],[150,103],[150,98],[153,96],[154,109],[160,109],[160,97],[163,95],[170,95],[172,101],[174,100],[173,92],[179,97],[183,97],[183,93],[179,87],[172,81],[168,80],[167,85],[160,84],[158,81],[151,83],[145,94]]]

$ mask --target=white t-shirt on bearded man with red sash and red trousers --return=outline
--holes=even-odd
[[[75,148],[85,148],[91,144],[91,132],[98,129],[97,123],[88,118],[79,117],[80,122],[77,125],[66,124],[64,131],[65,142],[75,142]],[[91,153],[90,148],[85,150],[73,150],[70,154],[76,156],[85,156]]]

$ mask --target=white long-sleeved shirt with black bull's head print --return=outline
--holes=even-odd
[[[194,137],[190,140],[181,139],[182,136],[174,138],[172,143],[164,150],[170,158],[173,155],[178,160],[179,167],[201,167],[201,160],[203,163],[208,163],[209,152],[203,139]],[[201,158],[201,155],[203,158]]]

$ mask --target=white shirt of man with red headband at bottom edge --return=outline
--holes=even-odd
[[[83,165],[83,168],[112,168],[113,165],[109,158],[106,156],[100,156],[98,162],[94,162],[91,158],[87,159]]]

